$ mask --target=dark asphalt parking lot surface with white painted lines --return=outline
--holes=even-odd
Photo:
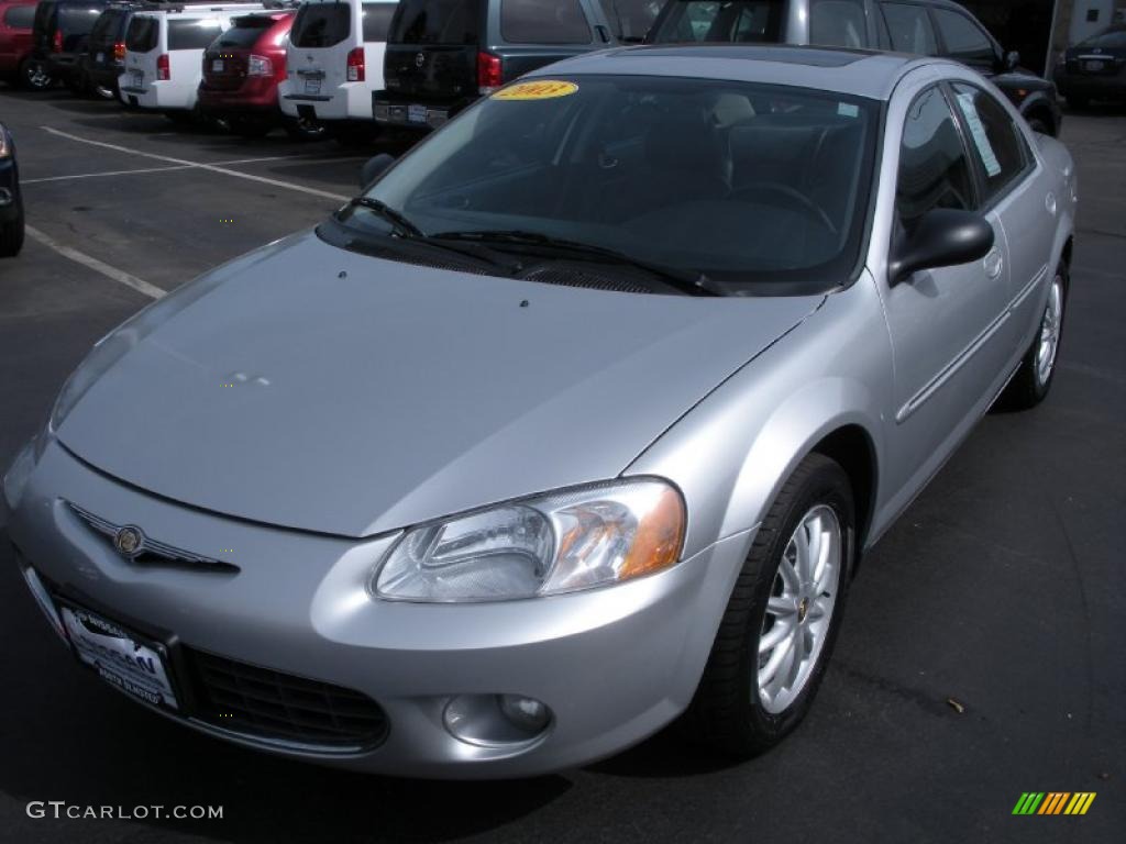
[[[3,467],[95,340],[151,294],[316,223],[374,152],[185,131],[62,91],[0,90],[0,120],[32,227],[0,262]],[[1069,115],[1063,137],[1081,212],[1053,394],[988,416],[865,560],[813,712],[775,752],[732,765],[665,731],[583,770],[501,783],[270,758],[79,671],[0,541],[0,839],[1119,841],[1126,115]],[[1098,797],[1084,817],[1013,817],[1029,790]],[[41,800],[224,810],[29,817]]]

